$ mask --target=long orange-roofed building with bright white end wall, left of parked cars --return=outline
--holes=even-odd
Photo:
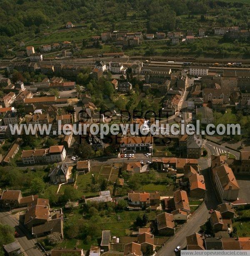
[[[58,163],[65,160],[66,150],[64,146],[51,146],[50,148],[24,150],[22,161],[24,164]]]

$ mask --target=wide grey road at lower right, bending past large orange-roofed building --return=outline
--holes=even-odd
[[[172,236],[165,245],[160,248],[157,252],[157,256],[173,256],[175,255],[174,249],[180,245],[181,248],[185,248],[186,237],[192,235],[195,232],[200,230],[200,226],[202,226],[209,218],[208,210],[213,208],[215,209],[219,204],[215,191],[213,189],[213,185],[209,176],[208,161],[206,159],[199,160],[200,167],[202,169],[202,174],[205,178],[205,184],[207,189],[207,198],[205,203],[203,203],[197,211],[191,216],[187,223],[185,223],[182,228],[180,228],[175,236]],[[180,253],[178,253],[179,255]]]

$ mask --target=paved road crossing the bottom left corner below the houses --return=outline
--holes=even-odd
[[[18,242],[23,248],[23,252],[25,252],[29,256],[42,256],[44,255],[36,245],[36,240],[31,237],[25,228],[19,226],[19,222],[11,215],[10,212],[0,212],[0,221],[3,224],[7,224],[19,233],[19,237],[17,238]]]

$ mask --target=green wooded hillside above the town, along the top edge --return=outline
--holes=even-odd
[[[2,0],[0,57],[21,40],[35,44],[81,41],[107,30],[211,30],[215,25],[249,29],[250,5],[232,0]],[[71,21],[79,28],[45,38]],[[62,30],[63,31],[63,30]]]

